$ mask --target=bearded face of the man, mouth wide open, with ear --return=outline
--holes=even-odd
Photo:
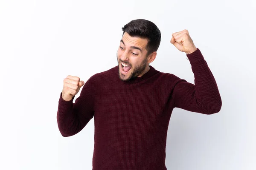
[[[131,37],[125,32],[116,54],[119,65],[119,78],[129,81],[141,77],[149,70],[149,63],[154,60],[156,52],[146,56],[148,39]]]

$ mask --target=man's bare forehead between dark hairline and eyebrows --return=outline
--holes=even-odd
[[[125,43],[125,46],[138,46],[141,49],[145,49],[148,44],[147,38],[131,37],[127,32],[122,36],[122,40]]]

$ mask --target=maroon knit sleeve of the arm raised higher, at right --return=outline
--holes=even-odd
[[[195,85],[173,75],[172,96],[175,107],[203,114],[218,113],[222,105],[221,96],[201,51],[197,48],[187,57],[192,66]]]

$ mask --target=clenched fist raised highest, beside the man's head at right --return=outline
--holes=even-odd
[[[189,36],[189,31],[186,29],[173,33],[170,42],[175,45],[178,50],[185,52],[186,54],[191,54],[197,49]]]

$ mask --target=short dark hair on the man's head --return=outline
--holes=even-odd
[[[161,32],[151,21],[144,19],[132,20],[122,28],[122,31],[124,31],[123,35],[127,32],[131,37],[147,38],[147,56],[157,51],[160,45]]]

